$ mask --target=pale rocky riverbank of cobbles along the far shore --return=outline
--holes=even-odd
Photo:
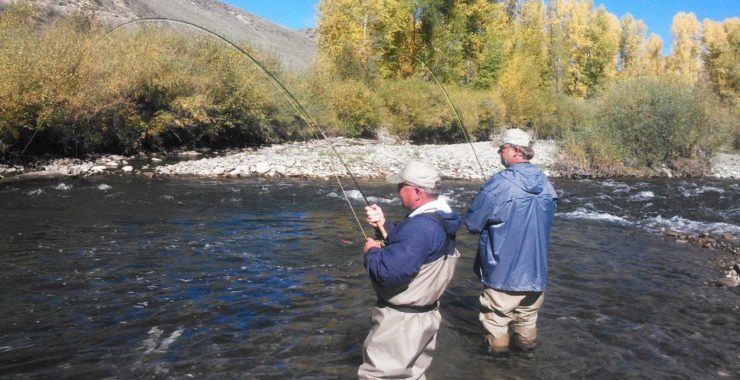
[[[392,140],[334,138],[331,146],[323,140],[311,140],[217,153],[206,150],[129,157],[106,155],[88,160],[37,162],[26,167],[0,165],[0,178],[131,174],[328,179],[335,174],[348,177],[344,164],[357,178],[383,178],[399,171],[407,161],[419,159],[434,164],[445,179],[481,180],[503,168],[491,142],[475,142],[472,146],[471,149],[470,144],[411,145]],[[562,160],[553,141],[537,141],[534,150],[532,161],[549,176],[569,175],[562,170]],[[667,169],[661,174],[671,175]],[[740,179],[740,155],[717,154],[707,175]]]

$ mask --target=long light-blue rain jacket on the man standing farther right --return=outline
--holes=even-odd
[[[545,290],[556,204],[552,184],[528,162],[511,165],[483,185],[465,215],[465,225],[480,233],[474,271],[485,286]]]

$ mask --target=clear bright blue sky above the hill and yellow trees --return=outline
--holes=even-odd
[[[224,0],[249,13],[291,29],[316,26],[316,0]],[[663,39],[664,53],[670,52],[671,23],[678,12],[693,12],[699,22],[722,21],[740,17],[740,0],[593,0],[609,13],[621,18],[627,13],[642,20],[648,36],[655,33]]]

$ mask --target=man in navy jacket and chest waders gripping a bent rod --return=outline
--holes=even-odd
[[[388,243],[365,243],[365,268],[378,302],[373,327],[362,346],[360,379],[424,379],[432,362],[442,322],[439,298],[447,289],[460,256],[455,233],[462,220],[438,199],[439,174],[412,161],[390,181],[398,186],[411,213],[398,225],[385,220],[377,205],[365,208],[367,222],[384,226]]]

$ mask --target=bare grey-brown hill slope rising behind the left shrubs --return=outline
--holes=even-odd
[[[0,0],[0,8],[16,0]],[[118,25],[142,17],[166,17],[209,29],[232,42],[247,41],[275,55],[294,71],[304,70],[316,57],[316,41],[305,31],[292,30],[215,0],[34,0],[47,12],[67,14],[93,11],[105,22]]]

